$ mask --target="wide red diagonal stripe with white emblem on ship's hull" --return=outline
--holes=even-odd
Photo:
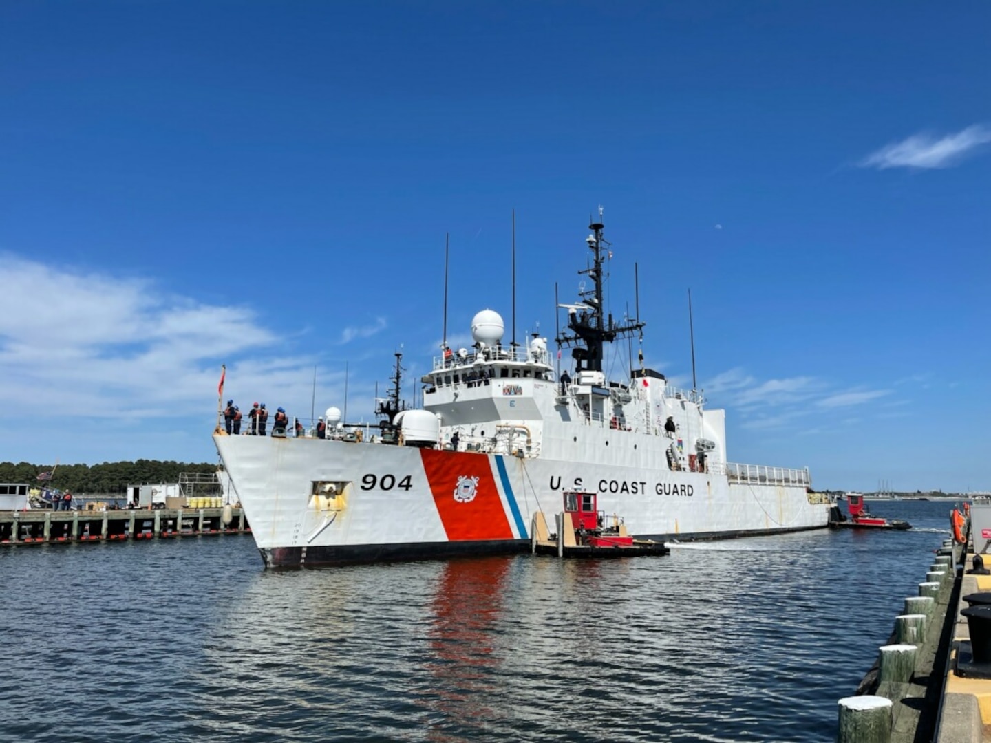
[[[513,538],[488,457],[433,449],[421,449],[420,455],[448,540]],[[475,496],[459,500],[455,493],[465,492],[466,478],[474,483]]]

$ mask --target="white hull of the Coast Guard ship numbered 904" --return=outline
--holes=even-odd
[[[532,514],[561,511],[565,489],[598,491],[602,510],[655,540],[799,531],[829,520],[830,503],[805,484],[619,466],[596,451],[569,462],[314,438],[214,441],[272,567],[523,551]]]

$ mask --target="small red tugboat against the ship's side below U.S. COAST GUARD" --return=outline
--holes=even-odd
[[[633,557],[667,555],[663,542],[633,539],[621,516],[599,510],[595,492],[566,490],[564,511],[555,516],[557,533],[551,534],[540,511],[533,514],[531,547],[534,554],[558,557]]]

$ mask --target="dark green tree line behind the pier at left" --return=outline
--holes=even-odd
[[[217,466],[208,463],[162,462],[137,460],[135,462],[104,462],[102,465],[31,465],[21,462],[0,462],[0,482],[29,482],[32,486],[51,485],[59,490],[75,493],[121,493],[128,485],[144,483],[178,482],[179,473],[211,475]],[[52,473],[52,478],[45,478]],[[39,479],[38,476],[43,478]]]

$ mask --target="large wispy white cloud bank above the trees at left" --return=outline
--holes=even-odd
[[[225,397],[294,403],[308,415],[314,360],[286,355],[250,309],[6,255],[0,275],[0,405],[11,415],[69,416],[69,426],[72,416],[209,416],[222,362]],[[337,376],[321,371],[320,388],[336,390]]]

